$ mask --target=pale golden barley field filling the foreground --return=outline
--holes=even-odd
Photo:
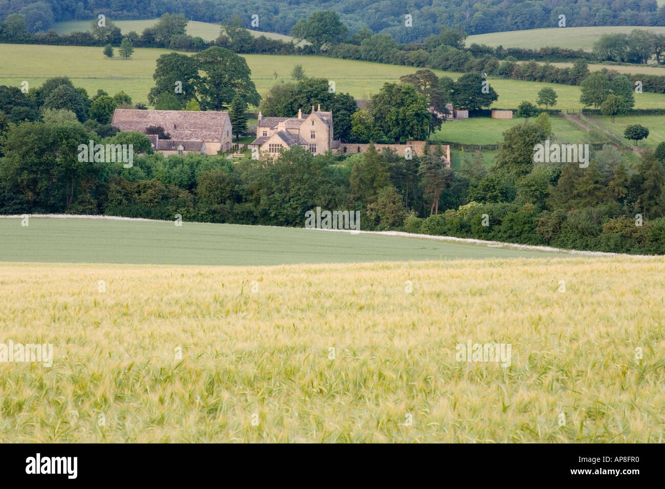
[[[0,263],[0,442],[662,442],[664,265]]]

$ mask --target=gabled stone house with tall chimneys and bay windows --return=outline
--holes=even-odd
[[[257,138],[250,146],[273,158],[282,148],[287,150],[292,146],[302,146],[313,154],[324,154],[340,146],[339,141],[332,139],[332,130],[332,112],[322,112],[321,104],[318,110],[312,106],[312,112],[306,116],[298,110],[298,116],[293,118],[263,117],[259,112]]]

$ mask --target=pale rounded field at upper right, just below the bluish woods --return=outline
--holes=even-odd
[[[630,33],[633,29],[642,29],[659,34],[665,34],[665,27],[551,27],[549,29],[529,29],[525,31],[507,31],[469,36],[466,45],[472,43],[486,44],[488,46],[502,45],[508,47],[522,47],[540,49],[541,47],[557,46],[568,49],[585,49],[591,51],[601,35],[610,33]]]

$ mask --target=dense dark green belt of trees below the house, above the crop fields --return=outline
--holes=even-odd
[[[554,139],[547,114],[505,132],[495,166],[481,154],[459,170],[442,150],[390,150],[344,160],[295,147],[277,160],[151,154],[136,132],[102,138],[75,120],[9,124],[0,138],[0,214],[70,212],[303,226],[307,210],[360,211],[365,230],[407,230],[577,249],[665,253],[665,145],[632,168],[606,146],[587,168],[533,163]],[[77,146],[134,144],[132,168],[80,164]]]

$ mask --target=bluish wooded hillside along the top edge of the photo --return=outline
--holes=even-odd
[[[317,10],[337,12],[354,33],[368,26],[396,41],[422,41],[440,26],[464,27],[468,34],[556,27],[664,26],[665,6],[657,0],[589,0],[555,5],[551,0],[0,0],[0,18],[22,13],[31,32],[47,31],[60,21],[90,21],[103,13],[111,19],[154,19],[184,13],[201,22],[219,23],[239,15],[245,27],[288,35],[291,27]],[[259,25],[251,25],[258,16]],[[407,27],[405,16],[412,25]],[[553,40],[552,40],[553,41]]]

